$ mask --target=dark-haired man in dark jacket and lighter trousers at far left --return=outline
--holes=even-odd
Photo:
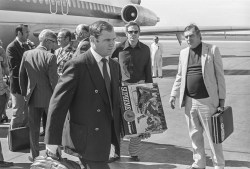
[[[31,49],[27,43],[29,36],[28,25],[18,25],[15,32],[15,40],[12,41],[6,49],[6,56],[9,60],[10,68],[10,92],[13,111],[13,116],[10,122],[11,129],[26,126],[28,123],[27,106],[25,106],[25,100],[21,95],[18,78],[23,53],[26,50]]]

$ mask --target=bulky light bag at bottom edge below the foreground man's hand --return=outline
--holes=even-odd
[[[81,169],[81,166],[67,158],[54,160],[47,156],[38,156],[31,164],[30,169]]]

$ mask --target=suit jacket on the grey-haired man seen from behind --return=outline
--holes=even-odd
[[[26,51],[20,65],[21,94],[28,105],[49,107],[49,101],[58,81],[56,56],[44,47]]]

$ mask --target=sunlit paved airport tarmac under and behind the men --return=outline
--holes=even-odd
[[[162,41],[163,42],[163,41]],[[149,42],[148,42],[149,43]],[[227,86],[226,106],[232,106],[234,132],[223,142],[226,161],[225,169],[250,168],[250,41],[209,41],[219,46]],[[154,134],[144,140],[140,154],[140,162],[129,160],[127,152],[128,140],[121,143],[121,159],[109,164],[110,169],[185,169],[192,160],[192,148],[188,136],[184,110],[172,110],[168,103],[169,94],[175,79],[178,56],[181,48],[177,41],[164,41],[167,46],[163,58],[163,78],[154,78],[160,88],[163,109],[168,130]],[[11,118],[11,109],[7,111]],[[7,130],[9,123],[0,124],[0,140],[5,161],[14,162],[12,169],[28,169],[31,162],[29,150],[11,152],[8,149]],[[44,154],[43,137],[40,138],[41,155]],[[206,169],[212,169],[210,147],[205,138]],[[63,154],[63,157],[79,161],[77,158]]]

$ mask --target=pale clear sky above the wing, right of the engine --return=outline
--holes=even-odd
[[[250,26],[250,0],[141,0],[157,26]]]

